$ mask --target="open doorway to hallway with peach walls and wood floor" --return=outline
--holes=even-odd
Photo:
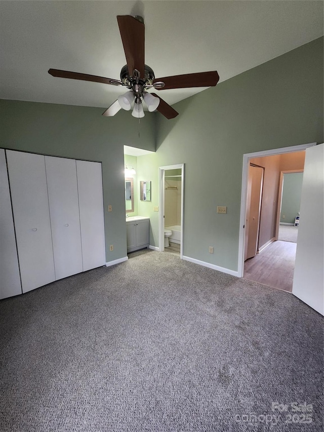
[[[241,221],[242,216],[244,217],[244,223],[240,230],[240,242],[244,245],[240,245],[241,262],[239,263],[238,269],[240,270],[241,264],[241,276],[262,284],[284,289],[286,291],[292,291],[293,288],[293,277],[294,277],[294,266],[296,257],[296,243],[289,241],[290,239],[278,240],[280,218],[282,221],[285,220],[285,216],[288,216],[286,220],[292,218],[288,215],[288,210],[281,214],[281,199],[282,199],[282,187],[284,184],[284,173],[288,172],[302,172],[304,166],[304,155],[305,149],[313,144],[306,144],[305,146],[296,146],[292,148],[270,150],[267,152],[252,153],[245,155],[246,166],[245,166],[245,186],[242,186],[242,207],[244,207],[244,213],[242,213],[241,207]],[[285,151],[286,150],[286,151]],[[257,240],[253,240],[253,250],[251,252],[249,243],[249,231],[251,223],[257,224],[257,216],[250,215],[249,195],[251,182],[252,169],[251,165],[257,165],[264,168],[264,177],[262,183],[263,194],[260,194],[260,203],[258,197],[255,198],[256,204],[259,210],[259,229]],[[259,169],[261,171],[261,169]],[[259,179],[256,176],[256,181],[260,184]],[[256,186],[255,186],[256,187]],[[257,189],[260,186],[257,186]],[[243,190],[244,189],[244,190]],[[299,210],[299,209],[298,209]],[[291,222],[283,222],[285,225],[292,226],[295,222],[295,217],[298,215],[298,210],[295,209],[294,220]],[[255,221],[253,221],[253,217]],[[288,225],[291,224],[291,225]],[[247,228],[247,229],[246,229]],[[298,230],[298,228],[297,228]],[[255,237],[255,236],[254,236]],[[250,252],[247,251],[250,249]],[[254,250],[256,253],[254,254]]]

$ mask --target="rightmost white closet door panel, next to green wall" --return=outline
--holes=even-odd
[[[105,264],[102,173],[98,162],[76,161],[83,270]]]

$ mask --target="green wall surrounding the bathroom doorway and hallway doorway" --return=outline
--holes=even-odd
[[[152,181],[151,206],[138,212],[151,218],[158,246],[158,167],[184,163],[184,255],[237,270],[243,154],[323,142],[323,38],[174,108],[174,120],[157,114],[156,153],[138,158]]]

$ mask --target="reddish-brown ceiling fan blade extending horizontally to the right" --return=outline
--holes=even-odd
[[[185,89],[188,87],[212,87],[216,86],[219,81],[219,75],[216,70],[211,72],[187,73],[185,75],[165,76],[164,78],[155,78],[154,83],[165,83],[164,87],[156,86],[157,90],[168,89]]]

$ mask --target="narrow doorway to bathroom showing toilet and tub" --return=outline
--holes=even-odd
[[[184,164],[159,167],[159,250],[183,256]]]

